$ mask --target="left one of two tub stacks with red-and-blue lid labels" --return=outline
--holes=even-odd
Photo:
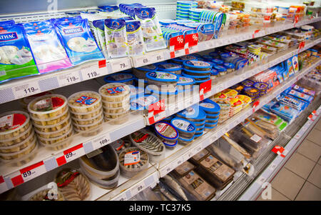
[[[94,91],[80,91],[68,98],[73,127],[83,136],[93,136],[103,129],[101,95]]]

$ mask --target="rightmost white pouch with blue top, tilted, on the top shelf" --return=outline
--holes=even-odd
[[[156,16],[156,9],[137,7],[135,8],[135,15],[137,16],[137,19],[141,21],[146,51],[165,49],[166,43],[163,39],[161,26]]]

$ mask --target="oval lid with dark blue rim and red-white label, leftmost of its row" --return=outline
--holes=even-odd
[[[178,139],[178,131],[172,124],[160,121],[154,124],[155,133],[166,141],[176,141]]]

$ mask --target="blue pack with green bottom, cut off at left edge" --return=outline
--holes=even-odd
[[[0,83],[39,74],[24,27],[6,23],[0,29]]]

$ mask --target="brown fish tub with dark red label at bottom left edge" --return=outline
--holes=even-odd
[[[67,201],[84,201],[91,196],[91,184],[76,169],[62,169],[56,175],[58,191]]]

